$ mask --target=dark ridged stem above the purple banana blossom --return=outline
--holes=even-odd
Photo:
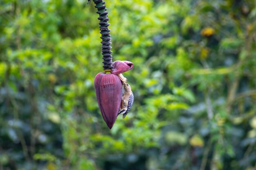
[[[106,12],[107,8],[104,5],[105,1],[103,0],[93,0],[95,5],[95,8],[98,9],[97,13],[99,14],[99,30],[101,31],[101,50],[102,50],[102,59],[104,60],[103,63],[103,70],[104,71],[111,71],[112,68],[112,51],[110,50],[112,47],[111,44],[111,38],[110,38],[110,29],[108,29],[108,26],[110,25],[108,23],[108,12]]]

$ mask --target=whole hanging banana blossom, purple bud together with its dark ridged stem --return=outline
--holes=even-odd
[[[90,2],[90,0],[88,0]],[[101,51],[103,59],[103,73],[98,73],[94,79],[97,102],[101,115],[107,126],[111,129],[120,111],[122,101],[122,85],[127,79],[121,75],[133,68],[133,63],[128,61],[115,61],[112,63],[112,47],[110,29],[108,26],[108,12],[106,12],[105,1],[93,0],[99,14],[99,29],[101,33]]]

